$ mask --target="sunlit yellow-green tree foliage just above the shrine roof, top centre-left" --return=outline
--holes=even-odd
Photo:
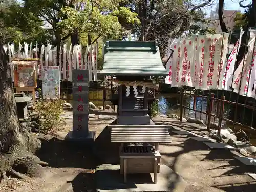
[[[69,6],[61,8],[61,21],[57,24],[59,29],[65,29],[66,33],[72,33],[77,29],[80,34],[97,33],[103,37],[118,39],[124,32],[119,18],[125,19],[127,23],[139,22],[136,13],[132,13],[126,7],[116,7],[112,1],[100,1],[99,5],[91,4],[91,1],[83,2],[84,6],[80,11]]]

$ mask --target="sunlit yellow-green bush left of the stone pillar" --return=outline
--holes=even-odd
[[[60,117],[63,113],[62,100],[42,100],[34,103],[34,110],[29,114],[31,131],[49,133],[54,128],[65,124]]]

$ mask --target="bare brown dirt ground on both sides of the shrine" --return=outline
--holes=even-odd
[[[90,118],[89,129],[96,131],[97,135],[96,147],[92,149],[63,141],[72,127],[72,119],[68,114],[70,113],[67,112],[67,125],[62,130],[54,137],[47,136],[41,139],[42,148],[37,156],[50,165],[45,168],[42,177],[31,178],[28,181],[10,178],[7,185],[0,185],[0,192],[96,191],[95,167],[103,163],[118,162],[117,147],[110,143],[110,134],[104,129],[113,119]],[[163,119],[157,119],[155,122],[173,124],[178,129],[195,131],[197,134],[206,133],[199,127],[191,127],[188,123],[180,125]],[[252,172],[253,169],[256,173],[254,167],[243,166],[234,159],[234,154],[227,150],[209,150],[202,142],[192,140],[186,135],[175,135],[173,132],[170,132],[170,135],[173,142],[160,145],[161,164],[172,168],[188,183],[186,192],[255,191],[256,181],[245,174]],[[170,181],[170,186],[175,187],[176,182]]]

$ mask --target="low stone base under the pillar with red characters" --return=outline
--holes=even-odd
[[[70,131],[65,140],[72,141],[72,142],[82,142],[82,143],[93,143],[96,138],[96,132],[89,131],[86,132],[77,132],[77,131]]]

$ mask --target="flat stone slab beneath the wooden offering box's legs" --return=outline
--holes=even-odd
[[[98,192],[142,192],[142,191],[184,191],[187,182],[166,165],[160,165],[157,184],[154,174],[127,174],[127,183],[123,183],[119,165],[103,164],[96,169],[96,187]]]

